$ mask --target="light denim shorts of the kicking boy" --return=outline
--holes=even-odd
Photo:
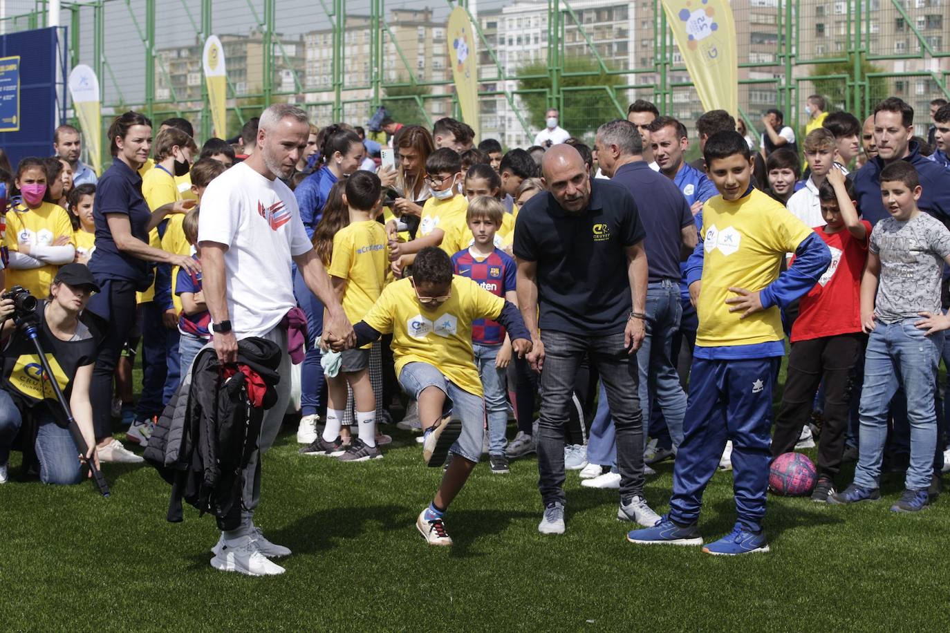
[[[407,363],[399,372],[399,384],[409,396],[419,400],[426,387],[438,387],[446,394],[442,415],[452,413],[462,420],[462,435],[452,444],[450,452],[477,462],[482,456],[482,439],[485,438],[485,400],[468,393],[449,381],[442,372],[429,363]],[[428,420],[426,420],[428,421]]]

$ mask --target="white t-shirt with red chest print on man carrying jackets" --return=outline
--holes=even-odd
[[[292,259],[313,246],[291,190],[246,163],[211,181],[201,196],[198,241],[224,253],[228,314],[238,339],[263,336],[295,307]]]

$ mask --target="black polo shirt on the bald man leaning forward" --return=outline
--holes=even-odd
[[[633,195],[609,180],[591,182],[587,209],[571,214],[550,193],[535,195],[515,223],[515,256],[537,262],[542,329],[622,332],[631,309],[625,249],[646,233]]]

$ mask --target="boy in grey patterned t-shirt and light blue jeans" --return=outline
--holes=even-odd
[[[943,330],[950,318],[940,312],[940,273],[950,263],[950,231],[921,213],[921,184],[913,165],[897,160],[881,172],[884,208],[891,215],[871,232],[861,283],[861,323],[867,333],[861,437],[854,482],[833,503],[881,498],[878,476],[890,400],[901,386],[910,423],[910,467],[904,492],[892,512],[917,512],[928,504],[934,475],[937,418],[934,390]]]

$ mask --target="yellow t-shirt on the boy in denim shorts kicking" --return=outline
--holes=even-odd
[[[451,298],[429,309],[416,298],[409,279],[391,283],[363,321],[392,334],[396,376],[407,363],[428,363],[470,394],[482,396],[482,381],[472,358],[472,321],[497,321],[504,299],[468,277],[452,277]]]

